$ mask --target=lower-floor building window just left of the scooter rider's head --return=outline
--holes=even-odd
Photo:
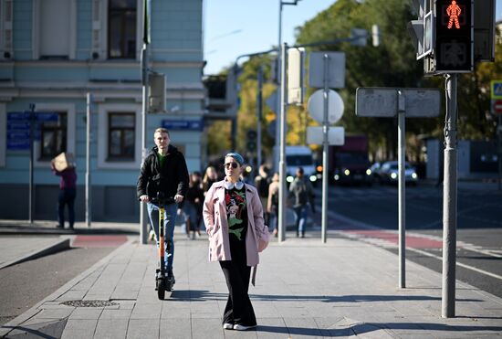
[[[108,158],[112,160],[134,160],[134,113],[110,112]]]

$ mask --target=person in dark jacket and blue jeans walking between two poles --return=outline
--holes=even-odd
[[[289,197],[293,199],[297,238],[300,235],[301,238],[305,238],[309,208],[312,209],[312,213],[316,213],[316,210],[314,206],[314,188],[305,177],[302,167],[298,167],[297,176],[289,186]]]

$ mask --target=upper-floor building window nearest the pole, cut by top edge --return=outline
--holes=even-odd
[[[136,0],[110,0],[108,57],[136,58]]]

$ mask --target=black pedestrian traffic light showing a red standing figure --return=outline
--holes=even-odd
[[[474,65],[473,0],[435,0],[434,73],[471,72]]]

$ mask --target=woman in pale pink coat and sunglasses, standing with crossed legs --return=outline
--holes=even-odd
[[[241,180],[244,158],[225,155],[225,179],[211,185],[204,199],[204,223],[209,235],[209,260],[219,261],[228,287],[223,315],[225,330],[256,327],[247,293],[251,267],[268,244],[268,228],[256,188]]]

